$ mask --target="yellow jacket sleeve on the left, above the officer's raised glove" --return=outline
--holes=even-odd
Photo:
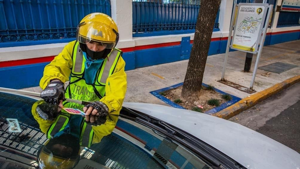
[[[69,80],[72,62],[72,52],[76,41],[68,43],[54,59],[45,66],[44,75],[40,81],[40,87],[45,89],[50,80],[58,79],[63,83]]]

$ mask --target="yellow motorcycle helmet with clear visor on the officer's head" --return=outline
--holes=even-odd
[[[119,41],[118,27],[107,14],[91,13],[80,21],[76,38],[82,44],[95,41],[107,49],[113,49]]]

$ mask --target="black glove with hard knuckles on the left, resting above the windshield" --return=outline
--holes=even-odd
[[[41,98],[47,103],[58,105],[60,100],[64,98],[64,83],[61,81],[52,81],[48,86],[41,92]]]

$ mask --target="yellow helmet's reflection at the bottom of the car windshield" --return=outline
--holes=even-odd
[[[47,143],[49,143],[49,140],[46,144]],[[79,158],[79,152],[77,155],[65,157],[64,155],[57,155],[53,153],[45,145],[43,145],[37,153],[38,167],[43,169],[73,168],[78,164]]]

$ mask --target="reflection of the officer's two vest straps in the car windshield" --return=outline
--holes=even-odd
[[[48,129],[47,138],[52,139],[56,133],[63,130],[68,124],[69,119],[70,119],[69,114],[60,114],[56,118],[55,122]],[[94,130],[91,125],[87,125],[85,123],[85,120],[82,120],[82,124],[80,127],[81,127],[80,146],[90,147],[94,136]]]

